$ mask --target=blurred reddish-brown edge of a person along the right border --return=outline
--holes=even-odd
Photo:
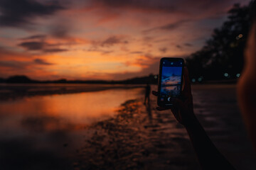
[[[245,66],[238,81],[238,105],[256,151],[256,1],[252,2],[252,26],[245,48]]]

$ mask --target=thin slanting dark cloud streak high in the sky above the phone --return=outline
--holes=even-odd
[[[155,28],[150,28],[148,30],[143,30],[142,32],[143,33],[149,33],[149,32],[154,31],[154,30],[175,30],[176,28],[181,27],[184,23],[188,23],[190,21],[191,20],[176,21],[174,23],[169,23],[169,24],[164,25],[164,26],[159,26],[159,27],[155,27]]]

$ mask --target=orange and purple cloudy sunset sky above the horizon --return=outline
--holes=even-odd
[[[0,77],[122,80],[203,47],[250,0],[0,0]]]

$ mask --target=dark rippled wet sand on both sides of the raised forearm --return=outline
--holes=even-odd
[[[220,152],[236,169],[255,169],[235,85],[193,86],[193,97],[198,120]],[[186,130],[170,111],[155,107],[154,97],[146,106],[127,101],[115,118],[87,127],[75,169],[200,169]]]

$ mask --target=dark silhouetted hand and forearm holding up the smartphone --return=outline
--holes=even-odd
[[[152,91],[152,94],[158,96],[156,91]],[[193,113],[191,84],[186,68],[184,69],[184,88],[181,92],[181,97],[171,98],[171,100],[174,103],[171,107],[171,112],[176,120],[186,128],[202,169],[235,169],[213,145],[213,142]],[[164,111],[169,108],[157,107],[156,109]]]

